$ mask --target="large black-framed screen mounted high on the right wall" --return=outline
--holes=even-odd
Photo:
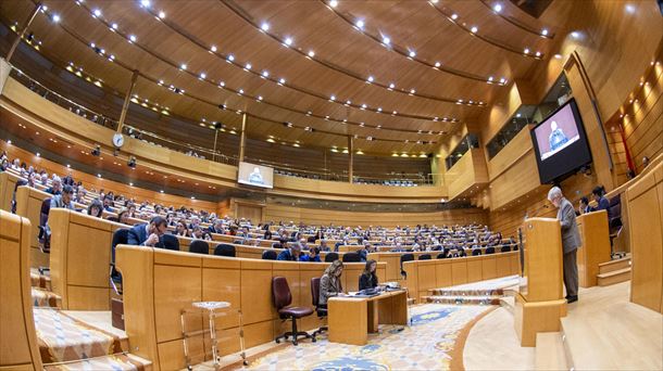
[[[574,99],[531,130],[541,184],[560,181],[591,163],[583,118]]]

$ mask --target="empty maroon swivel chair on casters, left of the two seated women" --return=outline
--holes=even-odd
[[[285,334],[277,336],[274,341],[280,343],[280,340],[288,340],[292,337],[292,345],[297,345],[297,338],[299,336],[305,336],[315,342],[315,336],[310,335],[308,332],[297,331],[297,320],[303,317],[313,315],[313,308],[311,307],[290,307],[292,304],[292,294],[288,286],[288,281],[285,277],[272,278],[272,298],[274,299],[274,306],[278,312],[278,317],[287,321],[292,320],[292,331],[288,331]]]

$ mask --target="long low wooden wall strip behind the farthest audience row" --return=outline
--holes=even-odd
[[[297,206],[267,204],[263,220],[284,220],[312,225],[335,226],[411,226],[416,225],[466,225],[472,222],[486,223],[487,213],[479,208],[462,208],[430,213],[363,213],[338,212]]]

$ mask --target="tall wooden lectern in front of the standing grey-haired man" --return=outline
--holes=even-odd
[[[560,221],[525,219],[525,244],[520,292],[515,296],[514,325],[521,346],[535,346],[538,332],[560,331],[566,316],[563,297],[562,235]]]

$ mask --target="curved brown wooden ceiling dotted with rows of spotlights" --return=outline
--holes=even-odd
[[[536,20],[509,1],[498,13],[496,3],[47,0],[29,30],[47,57],[83,67],[109,89],[126,91],[138,71],[134,93],[192,125],[240,127],[241,111],[253,138],[330,148],[346,146],[350,135],[363,151],[430,152],[505,92],[501,78],[527,78],[554,54],[552,36],[571,9],[555,1]],[[3,1],[0,12],[22,24],[34,7]],[[537,34],[543,29],[547,37]]]

